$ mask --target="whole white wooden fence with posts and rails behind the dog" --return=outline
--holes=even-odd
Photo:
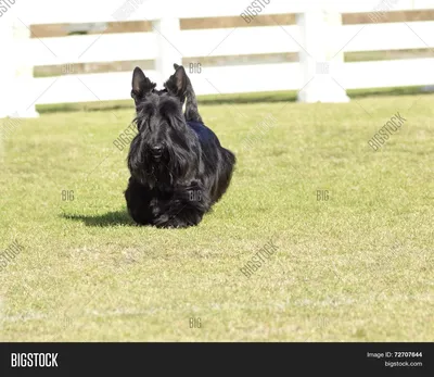
[[[304,102],[348,101],[345,89],[353,88],[434,84],[432,58],[343,61],[348,51],[432,48],[433,21],[381,23],[381,15],[434,9],[434,0],[257,0],[260,14],[295,13],[296,25],[201,30],[181,30],[180,20],[240,16],[253,0],[5,1],[9,9],[0,16],[0,117],[37,116],[36,104],[130,98],[130,72],[71,74],[68,67],[76,63],[154,60],[155,70],[146,75],[161,85],[182,58],[195,62],[201,56],[298,52],[296,63],[202,66],[190,77],[197,95],[299,90]],[[342,25],[342,13],[354,12],[367,12],[372,24]],[[30,38],[30,25],[119,21],[151,21],[153,32]],[[34,78],[33,68],[40,65],[59,65],[64,72]]]

